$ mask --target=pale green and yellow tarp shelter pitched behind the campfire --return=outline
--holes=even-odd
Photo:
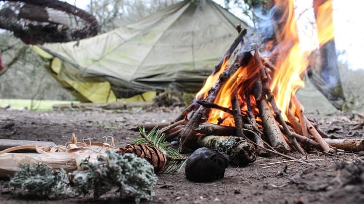
[[[150,90],[198,92],[248,25],[212,0],[184,0],[78,42],[33,46],[80,101],[113,102]]]

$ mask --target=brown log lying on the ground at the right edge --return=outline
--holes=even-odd
[[[347,152],[360,152],[364,151],[364,139],[330,139],[324,138],[324,140],[337,149],[341,149]]]

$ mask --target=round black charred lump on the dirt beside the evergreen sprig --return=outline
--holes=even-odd
[[[197,149],[187,159],[185,173],[190,181],[209,182],[224,177],[228,166],[226,155],[206,147]]]

